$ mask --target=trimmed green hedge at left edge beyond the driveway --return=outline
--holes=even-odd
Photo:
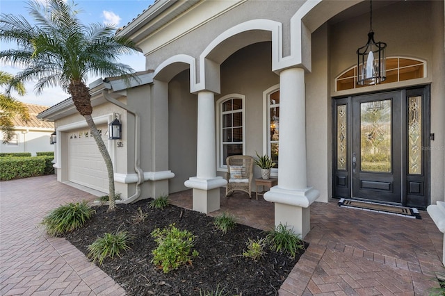
[[[54,174],[53,156],[2,157],[0,181]]]

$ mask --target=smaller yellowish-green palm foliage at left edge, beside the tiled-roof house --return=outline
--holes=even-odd
[[[0,71],[0,86],[10,85],[13,81],[14,76],[12,74]],[[25,88],[23,83],[18,83],[16,85],[11,85],[19,95],[25,94]],[[9,94],[0,94],[0,130],[3,132],[3,144],[6,144],[12,140],[14,135],[14,123],[13,118],[18,115],[22,117],[22,120],[29,120],[28,108],[21,102],[17,101]]]

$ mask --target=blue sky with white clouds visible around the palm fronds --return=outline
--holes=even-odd
[[[45,0],[39,0],[44,2]],[[72,0],[69,0],[72,1]],[[132,19],[136,18],[143,10],[147,9],[154,0],[74,0],[76,8],[81,10],[79,18],[83,24],[103,23],[113,24],[116,28],[126,26]],[[28,1],[21,0],[0,0],[0,13],[23,15],[31,21],[28,10]],[[1,49],[12,48],[15,44],[0,43]],[[130,65],[136,71],[145,70],[145,58],[143,54],[133,54],[122,56],[120,63]],[[0,63],[1,71],[15,74],[19,71],[17,67],[11,67]],[[88,83],[101,77],[92,77]],[[103,77],[102,77],[103,78]],[[13,97],[19,101],[42,106],[54,106],[60,101],[70,97],[61,88],[45,88],[40,94],[34,92],[35,83],[26,83],[26,94],[19,96],[13,93]]]

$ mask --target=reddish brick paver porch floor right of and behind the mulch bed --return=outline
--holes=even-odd
[[[192,208],[192,190],[171,194],[170,202]],[[220,210],[238,222],[273,229],[274,206],[244,192],[225,197]],[[309,248],[280,288],[280,295],[428,295],[438,287],[443,234],[426,211],[421,220],[340,208],[337,200],[311,206]]]

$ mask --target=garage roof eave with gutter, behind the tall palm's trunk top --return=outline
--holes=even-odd
[[[91,106],[99,106],[106,102],[102,95],[102,90],[108,90],[114,97],[127,96],[129,88],[135,88],[153,82],[153,71],[143,71],[136,73],[136,78],[125,81],[120,77],[110,77],[106,79],[97,79],[90,83]],[[61,101],[60,103],[44,110],[37,115],[37,118],[44,121],[54,122],[63,117],[67,117],[78,113],[76,106],[71,97]]]

